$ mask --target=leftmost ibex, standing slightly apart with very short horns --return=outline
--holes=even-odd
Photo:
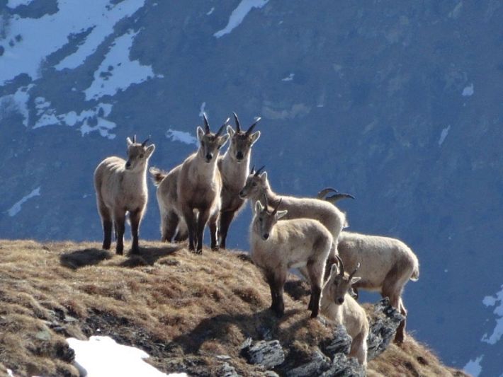
[[[147,146],[128,137],[128,161],[120,157],[105,158],[94,171],[94,187],[98,212],[103,222],[103,249],[112,241],[112,221],[117,239],[116,253],[123,254],[125,214],[131,222],[131,253],[139,253],[138,229],[147,206],[147,164],[154,152],[154,144]]]

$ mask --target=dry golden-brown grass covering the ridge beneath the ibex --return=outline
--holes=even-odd
[[[247,337],[280,340],[288,366],[330,335],[309,319],[306,286],[295,277],[277,320],[269,287],[246,254],[142,245],[140,257],[123,257],[97,243],[0,241],[0,376],[6,368],[16,376],[78,376],[64,339],[97,334],[145,349],[162,371],[218,375],[215,356],[225,354],[238,373],[259,376],[239,357]],[[463,373],[410,339],[371,361],[368,376]]]

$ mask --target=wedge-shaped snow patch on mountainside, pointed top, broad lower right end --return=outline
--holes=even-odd
[[[86,100],[96,100],[103,95],[115,95],[133,83],[142,83],[154,77],[152,67],[142,66],[137,60],[129,59],[132,43],[137,34],[133,30],[128,30],[112,43],[105,59],[94,72],[94,81],[84,91]]]

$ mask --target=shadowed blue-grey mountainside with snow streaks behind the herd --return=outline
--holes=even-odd
[[[126,137],[151,135],[169,169],[202,110],[215,128],[261,116],[252,163],[273,189],[355,195],[349,230],[419,257],[409,332],[502,376],[502,3],[0,0],[0,237],[101,240],[92,175]]]

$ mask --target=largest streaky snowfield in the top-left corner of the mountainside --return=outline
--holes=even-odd
[[[8,6],[28,4],[30,1],[10,0]],[[0,37],[5,51],[0,60],[0,86],[19,74],[31,79],[40,78],[40,66],[45,59],[67,45],[70,37],[91,30],[73,54],[57,64],[56,69],[74,69],[84,64],[86,57],[113,33],[115,24],[145,5],[145,0],[124,0],[111,4],[110,0],[60,0],[59,11],[40,18],[23,18],[14,14],[7,19],[9,28]],[[40,33],[43,30],[43,33]]]

